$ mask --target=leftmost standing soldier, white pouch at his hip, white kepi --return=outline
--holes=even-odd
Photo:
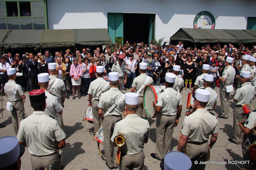
[[[23,100],[26,99],[22,91],[22,87],[19,84],[16,84],[16,70],[15,68],[10,68],[7,70],[7,75],[9,77],[9,81],[4,86],[5,96],[8,97],[10,102],[13,105],[12,112],[12,122],[13,122],[13,130],[16,135],[18,134],[20,121],[25,117],[24,113],[24,104]]]

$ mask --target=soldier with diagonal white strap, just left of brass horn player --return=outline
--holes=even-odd
[[[100,96],[98,104],[99,116],[102,121],[104,142],[103,148],[106,155],[106,165],[109,168],[116,168],[117,148],[112,145],[111,137],[117,120],[122,119],[124,111],[124,94],[118,89],[119,75],[117,72],[109,73],[110,90]]]

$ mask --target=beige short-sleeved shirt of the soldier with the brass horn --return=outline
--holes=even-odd
[[[125,138],[121,152],[129,155],[139,153],[144,149],[144,139],[148,138],[149,128],[147,120],[138,117],[137,114],[129,114],[115,124],[111,141],[121,134]]]

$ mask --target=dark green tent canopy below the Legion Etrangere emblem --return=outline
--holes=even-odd
[[[194,29],[180,28],[172,40],[188,41],[191,43],[256,43],[255,30],[224,30],[224,29]]]

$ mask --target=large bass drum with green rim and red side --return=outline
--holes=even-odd
[[[163,85],[146,85],[143,93],[143,107],[149,117],[155,117],[155,108],[153,107],[153,101],[157,102],[158,94],[165,89]]]

